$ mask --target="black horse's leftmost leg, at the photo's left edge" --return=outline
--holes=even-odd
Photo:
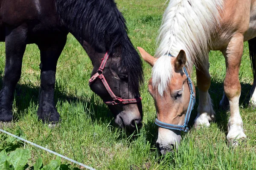
[[[13,94],[21,75],[26,37],[27,29],[25,26],[19,26],[15,29],[6,28],[6,65],[3,88],[0,91],[0,122],[12,121]]]

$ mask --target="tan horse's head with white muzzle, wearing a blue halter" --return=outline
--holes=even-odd
[[[177,148],[180,143],[180,130],[187,130],[186,125],[189,116],[187,117],[186,113],[191,111],[191,107],[194,105],[195,88],[184,67],[186,53],[180,50],[177,57],[166,54],[164,57],[169,57],[167,62],[171,62],[171,68],[164,68],[164,64],[160,63],[163,62],[160,61],[161,58],[152,57],[143,48],[138,47],[138,49],[145,62],[148,62],[153,67],[152,77],[148,82],[148,91],[154,98],[157,110],[156,124],[159,126],[157,148],[162,154],[165,154]],[[169,79],[166,81],[164,90],[161,87],[161,83],[163,83],[161,81],[165,80],[159,77],[154,78],[154,74],[156,74],[154,71],[157,71],[157,69],[163,69],[166,70],[167,74],[172,74],[167,75]],[[162,73],[163,70],[161,71]]]

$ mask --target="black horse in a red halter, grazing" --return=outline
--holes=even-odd
[[[0,121],[10,122],[15,85],[26,44],[41,54],[38,118],[58,122],[53,95],[58,57],[71,33],[93,64],[90,88],[108,105],[119,127],[134,130],[142,121],[140,56],[113,0],[0,0],[0,41],[6,42],[6,66],[0,91]]]

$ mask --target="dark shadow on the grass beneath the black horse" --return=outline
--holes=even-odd
[[[0,75],[3,75],[0,74]],[[0,77],[0,88],[2,89],[3,86],[3,77]],[[54,90],[54,101],[55,105],[57,102],[61,106],[64,102],[68,103],[87,103],[87,107],[84,108],[84,112],[87,110],[93,110],[93,114],[89,114],[92,122],[99,122],[100,120],[103,122],[111,122],[113,120],[113,114],[107,106],[99,101],[95,101],[96,97],[94,94],[92,97],[87,96],[70,96],[67,94],[65,85],[59,85],[56,81],[55,84],[55,90]],[[21,117],[25,116],[26,109],[29,108],[29,105],[31,103],[35,103],[35,105],[38,105],[39,100],[39,91],[40,88],[38,85],[34,85],[32,83],[26,83],[26,84],[17,84],[15,88],[14,93],[14,99],[15,99],[15,106],[17,107],[17,112],[14,113],[15,120],[19,120]],[[99,99],[100,100],[100,99]],[[59,106],[58,105],[58,106]],[[57,108],[58,109],[58,108]],[[114,122],[111,122],[112,126],[115,126]]]

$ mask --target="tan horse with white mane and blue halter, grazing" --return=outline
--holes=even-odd
[[[239,113],[239,67],[243,42],[249,40],[254,73],[250,104],[256,105],[256,0],[171,0],[163,14],[155,57],[138,48],[152,68],[148,90],[157,109],[157,147],[161,153],[180,142],[193,106],[195,88],[189,80],[196,67],[199,91],[195,127],[209,126],[215,112],[208,93],[210,86],[208,54],[219,50],[226,60],[224,96],[220,105],[229,104],[227,141],[245,139]],[[188,76],[185,72],[188,72]],[[227,102],[228,100],[228,102]],[[186,118],[185,118],[186,117]],[[184,120],[186,119],[186,120]],[[184,123],[185,121],[185,123]]]

